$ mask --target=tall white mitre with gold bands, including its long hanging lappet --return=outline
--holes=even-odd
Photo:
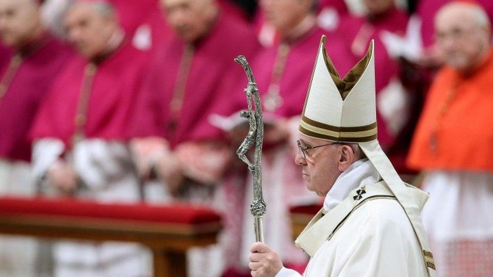
[[[427,195],[425,199],[413,196],[377,140],[373,41],[366,56],[341,79],[327,57],[322,36],[299,130],[317,139],[358,143],[403,206],[421,245],[423,259],[432,259],[419,208]],[[434,270],[428,270],[430,275],[434,274]]]

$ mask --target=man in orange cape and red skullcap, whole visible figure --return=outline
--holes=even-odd
[[[431,193],[423,221],[442,276],[493,275],[493,50],[491,25],[474,4],[435,18],[446,65],[428,93],[408,163]]]

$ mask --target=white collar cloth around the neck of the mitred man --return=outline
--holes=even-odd
[[[380,181],[382,177],[367,158],[355,161],[341,173],[334,185],[325,196],[323,208],[326,212],[337,206],[348,194],[363,185],[370,185]]]

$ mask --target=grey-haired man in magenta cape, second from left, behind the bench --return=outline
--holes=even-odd
[[[127,123],[147,56],[129,43],[118,14],[104,1],[71,2],[64,27],[79,55],[54,80],[36,117],[35,178],[56,195],[139,201]],[[57,243],[55,275],[147,276],[146,254],[133,244]]]

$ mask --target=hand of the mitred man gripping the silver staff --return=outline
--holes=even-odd
[[[265,243],[257,242],[250,249],[249,267],[252,269],[254,277],[275,276],[282,268],[282,261],[279,255],[270,249]]]

